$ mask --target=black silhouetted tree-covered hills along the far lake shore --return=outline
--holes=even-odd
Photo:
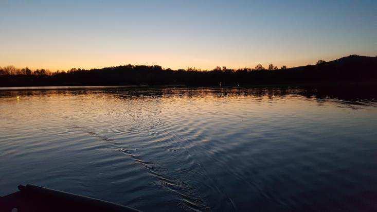
[[[24,70],[24,69],[23,69]],[[348,56],[316,65],[274,70],[216,68],[201,72],[195,69],[163,69],[161,66],[124,65],[101,69],[71,69],[46,75],[42,70],[29,74],[0,75],[0,86],[50,85],[256,85],[334,82],[376,82],[377,57]],[[25,72],[25,70],[24,70]]]

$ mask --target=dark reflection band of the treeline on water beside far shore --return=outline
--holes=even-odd
[[[257,88],[174,88],[173,87],[137,87],[137,86],[67,86],[67,87],[10,87],[0,89],[0,98],[9,98],[17,96],[33,96],[33,95],[84,95],[84,94],[112,94],[118,95],[120,98],[132,97],[198,97],[211,96],[216,98],[225,98],[227,96],[255,96],[258,99],[268,98],[270,102],[274,98],[284,99],[286,96],[300,96],[303,98],[315,98],[318,105],[326,101],[345,104],[343,107],[375,105],[377,100],[377,92],[370,89],[355,89],[355,87],[342,87],[341,89],[334,87],[307,89],[295,87],[257,87]]]

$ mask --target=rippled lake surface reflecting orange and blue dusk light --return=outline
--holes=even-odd
[[[376,106],[298,89],[0,90],[0,196],[36,184],[147,211],[377,209]]]

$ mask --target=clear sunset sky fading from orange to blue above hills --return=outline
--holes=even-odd
[[[0,66],[212,69],[377,55],[377,1],[4,1]]]

